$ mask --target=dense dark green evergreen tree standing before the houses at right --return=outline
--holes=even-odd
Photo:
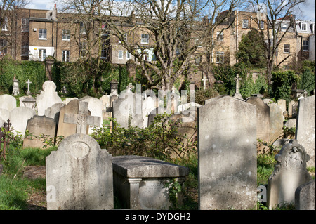
[[[260,34],[251,29],[246,35],[242,35],[242,41],[239,42],[237,59],[244,62],[249,67],[265,67],[265,50]]]

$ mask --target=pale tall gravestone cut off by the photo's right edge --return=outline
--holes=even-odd
[[[308,166],[315,167],[315,95],[298,100],[295,139],[310,155]]]

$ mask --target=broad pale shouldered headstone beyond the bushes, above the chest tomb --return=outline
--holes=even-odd
[[[139,98],[140,97],[140,98]],[[139,128],[143,127],[142,100],[135,93],[121,93],[117,100],[113,101],[112,117],[122,128],[127,129],[129,124]]]

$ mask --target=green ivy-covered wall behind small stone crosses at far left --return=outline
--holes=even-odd
[[[4,93],[12,93],[13,77],[19,81],[20,93],[24,95],[27,91],[27,80],[32,82],[29,85],[30,91],[37,94],[47,80],[45,65],[43,62],[17,61],[4,58],[0,60],[0,88]]]

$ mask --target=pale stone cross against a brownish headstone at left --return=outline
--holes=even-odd
[[[88,125],[99,125],[101,117],[90,116],[88,114],[88,102],[79,103],[78,114],[65,114],[64,122],[77,124],[76,133],[86,134]]]

